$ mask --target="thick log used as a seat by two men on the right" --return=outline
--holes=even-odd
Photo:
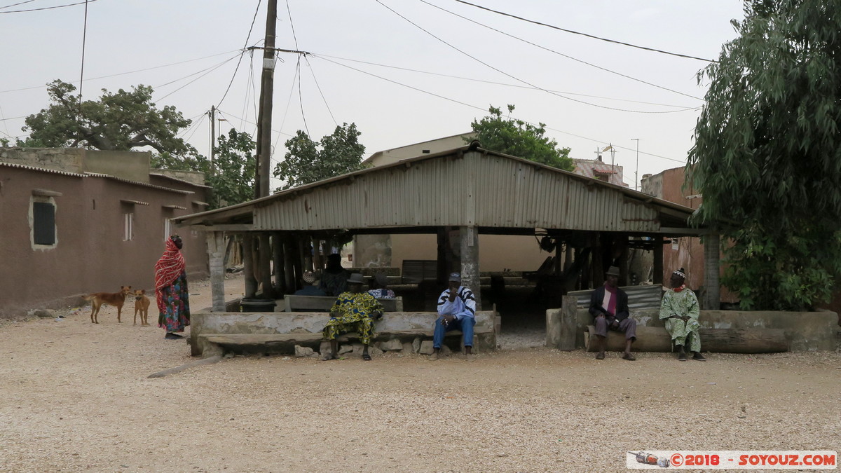
[[[595,327],[587,326],[584,348],[596,351]],[[701,351],[715,353],[780,353],[789,349],[785,331],[781,328],[701,328]],[[637,340],[632,344],[637,352],[670,352],[672,340],[663,327],[637,327]],[[625,350],[625,334],[609,331],[607,351]]]

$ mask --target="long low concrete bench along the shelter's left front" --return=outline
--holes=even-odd
[[[411,342],[429,339],[435,329],[436,312],[389,312],[374,325],[375,340],[393,338]],[[473,348],[496,348],[495,311],[476,312]],[[212,356],[222,348],[245,353],[292,353],[295,345],[318,349],[321,329],[330,315],[324,312],[198,312],[191,316],[190,344],[193,356]],[[353,333],[339,337],[344,342]],[[457,347],[462,333],[447,332],[447,345]]]

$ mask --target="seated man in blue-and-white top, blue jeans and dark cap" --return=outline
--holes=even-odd
[[[430,359],[438,359],[444,333],[461,330],[464,340],[464,356],[473,357],[473,326],[476,325],[476,297],[473,291],[462,285],[462,276],[450,274],[450,287],[438,298],[438,318],[435,334],[432,336],[433,353]]]

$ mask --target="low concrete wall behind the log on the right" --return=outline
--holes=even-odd
[[[561,337],[561,311],[546,311],[547,346],[557,346]],[[659,311],[631,311],[631,316],[637,320],[638,327],[664,327],[663,321],[659,320]],[[701,311],[699,322],[704,328],[780,328],[785,331],[792,351],[834,350],[838,330],[838,315],[828,311]],[[575,348],[584,348],[584,332],[592,324],[593,316],[589,311],[575,311]]]

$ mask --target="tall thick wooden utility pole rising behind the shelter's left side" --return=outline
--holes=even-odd
[[[266,47],[263,49],[262,81],[260,82],[260,111],[257,114],[257,179],[254,197],[271,194],[269,167],[272,165],[272,95],[274,93],[274,39],[278,19],[278,0],[269,0],[266,13]]]

